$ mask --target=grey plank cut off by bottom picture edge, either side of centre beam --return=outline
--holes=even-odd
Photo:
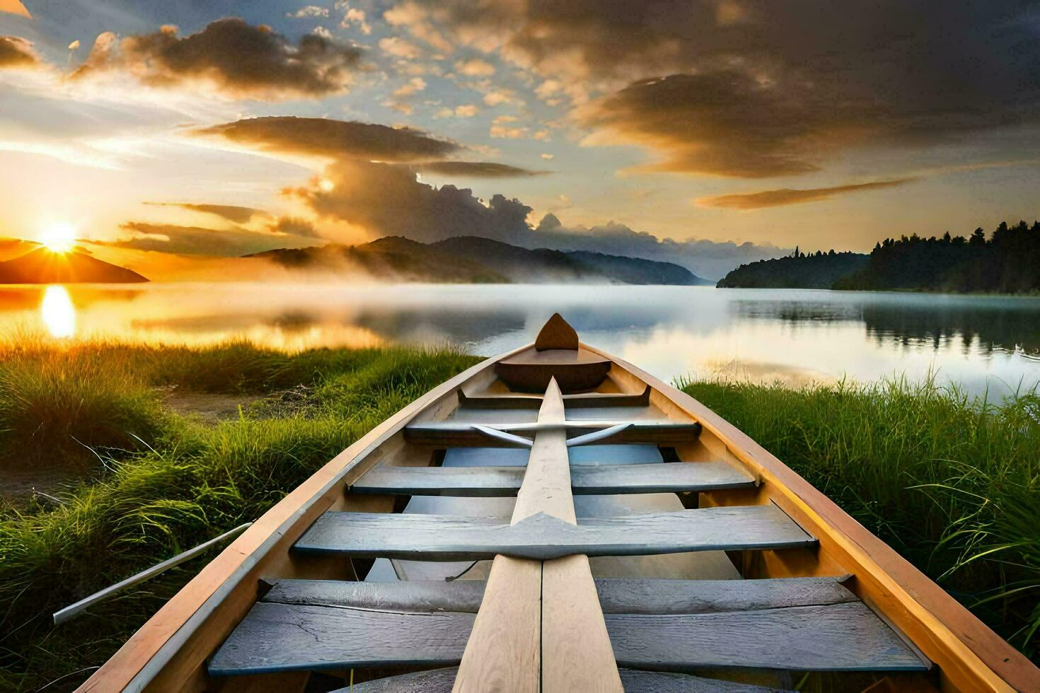
[[[355,684],[354,693],[450,693],[459,667],[413,671],[397,676],[375,678]],[[626,691],[643,693],[766,693],[781,689],[752,686],[719,678],[704,678],[686,673],[619,669],[621,683]],[[352,688],[341,688],[333,693],[350,693]]]

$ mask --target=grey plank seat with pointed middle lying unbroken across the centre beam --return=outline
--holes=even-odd
[[[687,551],[811,547],[815,539],[773,505],[586,517],[576,525],[539,512],[513,524],[498,517],[326,512],[294,550],[427,561],[497,554],[547,560],[649,556]]]

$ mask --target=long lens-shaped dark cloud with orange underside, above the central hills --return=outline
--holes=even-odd
[[[235,121],[193,131],[265,152],[379,161],[441,159],[462,144],[413,128],[330,118],[268,116]]]

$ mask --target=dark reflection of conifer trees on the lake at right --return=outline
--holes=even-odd
[[[879,344],[896,341],[904,345],[931,345],[935,350],[960,342],[969,353],[978,338],[979,348],[1013,350],[1040,355],[1040,308],[1037,305],[864,305],[866,334]]]

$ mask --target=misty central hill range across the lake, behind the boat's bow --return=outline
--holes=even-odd
[[[684,267],[599,252],[548,250],[460,236],[419,243],[396,236],[363,245],[257,252],[283,267],[363,273],[379,281],[460,284],[710,284]]]

